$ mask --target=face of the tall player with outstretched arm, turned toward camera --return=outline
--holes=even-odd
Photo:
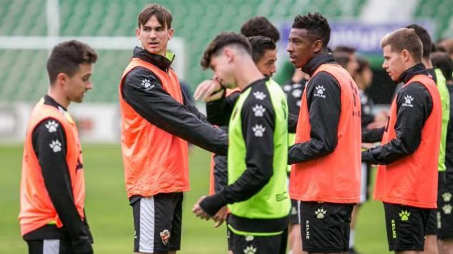
[[[136,29],[135,33],[144,49],[162,56],[167,53],[168,41],[173,37],[173,29],[161,25],[155,16],[151,16],[145,24],[140,26],[140,29]]]

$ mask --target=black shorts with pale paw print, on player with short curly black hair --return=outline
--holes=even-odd
[[[343,252],[349,249],[354,204],[300,202],[302,248],[308,252]]]

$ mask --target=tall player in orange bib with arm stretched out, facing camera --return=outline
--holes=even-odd
[[[189,190],[187,142],[226,155],[228,136],[206,122],[170,68],[170,12],[146,6],[138,15],[136,35],[142,47],[134,49],[119,85],[134,251],[175,253],[181,243],[183,192]]]

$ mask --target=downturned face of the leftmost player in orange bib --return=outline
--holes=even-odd
[[[86,91],[93,88],[90,81],[90,76],[93,73],[93,64],[84,63],[79,65],[76,73],[69,77],[67,76],[64,83],[64,94],[66,99],[71,102],[82,102]]]

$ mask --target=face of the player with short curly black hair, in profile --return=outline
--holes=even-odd
[[[313,52],[313,36],[307,34],[306,29],[291,28],[289,44],[289,61],[295,68],[303,68],[315,55]]]

